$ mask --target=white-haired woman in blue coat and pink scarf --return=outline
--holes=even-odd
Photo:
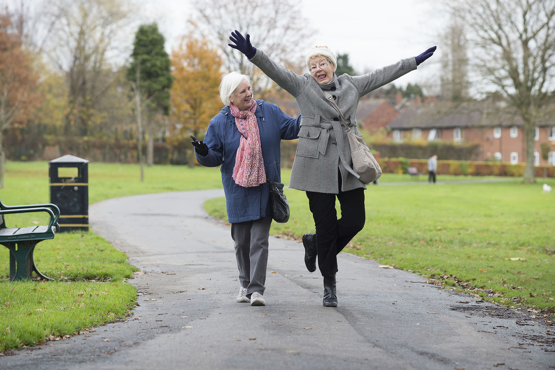
[[[300,117],[254,99],[249,77],[236,72],[221,80],[220,99],[225,107],[210,120],[204,141],[191,136],[192,144],[201,165],[221,166],[241,283],[237,301],[264,306],[272,222],[266,179],[281,182],[280,141],[297,138]]]

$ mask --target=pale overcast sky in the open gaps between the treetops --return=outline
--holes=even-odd
[[[191,0],[134,1],[144,4],[145,17],[159,19],[160,31],[168,45],[176,44],[185,33]],[[297,1],[302,15],[309,19],[312,28],[319,30],[315,35],[316,44],[327,45],[336,54],[349,54],[350,64],[359,73],[415,57],[437,45],[445,24],[438,16],[437,1],[431,0]],[[437,46],[441,50],[441,45]],[[396,84],[437,78],[439,54],[436,54],[418,67],[417,72],[408,73]]]

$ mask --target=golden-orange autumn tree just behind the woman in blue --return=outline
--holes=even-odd
[[[210,119],[220,111],[222,103],[218,86],[221,65],[218,51],[204,37],[194,38],[191,34],[184,36],[172,51],[174,83],[170,90],[171,136],[168,142],[173,146],[190,141],[189,135],[201,139]],[[189,153],[188,163],[192,165],[194,151],[190,150]]]

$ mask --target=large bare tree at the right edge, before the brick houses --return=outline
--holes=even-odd
[[[534,131],[555,85],[555,0],[448,2],[467,26],[483,90],[501,90],[524,121],[524,183],[534,179]],[[550,97],[551,95],[551,97]]]

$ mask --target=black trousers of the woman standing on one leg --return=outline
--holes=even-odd
[[[310,211],[316,226],[316,249],[318,267],[322,276],[334,275],[337,269],[337,255],[364,227],[364,189],[339,191],[339,194],[325,194],[307,191]],[[337,219],[335,199],[341,206],[341,218]]]

